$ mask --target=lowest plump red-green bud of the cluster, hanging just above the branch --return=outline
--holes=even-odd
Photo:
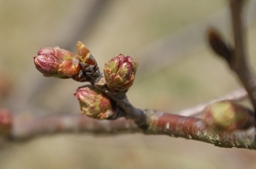
[[[80,110],[88,117],[110,119],[115,115],[110,100],[95,87],[80,87],[74,95],[79,101]]]

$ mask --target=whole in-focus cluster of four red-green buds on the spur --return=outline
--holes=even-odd
[[[98,88],[106,84],[108,91],[123,96],[133,84],[138,67],[136,59],[119,54],[105,64],[103,75],[94,56],[82,42],[77,42],[77,56],[59,47],[40,48],[34,64],[44,76],[91,82],[92,86],[80,87],[74,95],[82,113],[95,119],[119,116],[110,99]]]

